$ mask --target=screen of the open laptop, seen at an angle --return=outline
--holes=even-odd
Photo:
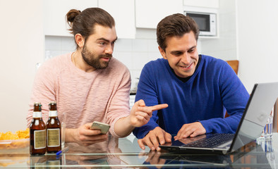
[[[278,96],[278,83],[255,84],[230,151],[260,137]]]

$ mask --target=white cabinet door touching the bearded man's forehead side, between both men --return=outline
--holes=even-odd
[[[135,38],[134,5],[134,0],[99,0],[99,8],[103,8],[113,16],[118,38]]]

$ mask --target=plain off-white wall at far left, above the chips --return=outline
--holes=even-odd
[[[42,61],[42,1],[0,0],[0,132],[26,129],[35,63]]]

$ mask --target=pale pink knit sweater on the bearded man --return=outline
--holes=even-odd
[[[66,128],[77,128],[85,123],[99,121],[111,125],[130,113],[129,91],[131,76],[123,63],[111,58],[109,66],[86,73],[71,62],[71,54],[56,56],[42,64],[37,71],[27,116],[28,127],[32,120],[34,102],[42,103],[42,117],[48,119],[48,104],[57,102],[58,117]]]

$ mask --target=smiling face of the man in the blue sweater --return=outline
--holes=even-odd
[[[168,37],[166,44],[165,50],[159,46],[159,51],[174,73],[182,78],[193,75],[199,60],[194,33],[191,31],[182,37]]]

